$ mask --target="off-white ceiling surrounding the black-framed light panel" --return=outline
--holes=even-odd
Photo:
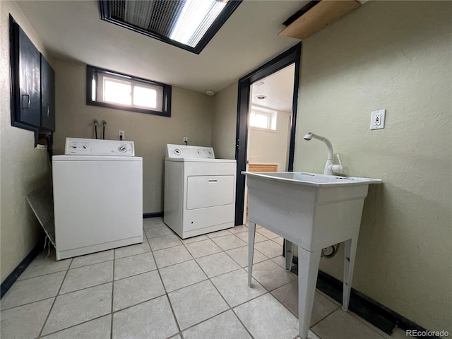
[[[218,92],[300,40],[278,36],[304,1],[244,0],[201,54],[100,20],[97,1],[16,1],[52,57]]]

